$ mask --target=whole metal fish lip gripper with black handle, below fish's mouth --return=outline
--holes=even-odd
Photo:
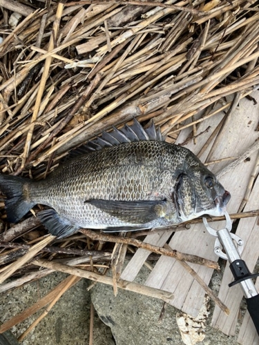
[[[208,232],[217,237],[214,245],[215,254],[222,259],[229,260],[229,268],[234,277],[234,281],[229,286],[241,285],[244,297],[247,300],[247,310],[259,335],[259,295],[252,281],[252,278],[258,277],[259,273],[251,274],[247,264],[241,259],[240,255],[244,248],[244,242],[239,236],[231,233],[232,223],[227,211],[224,212],[224,216],[226,217],[226,226],[221,230],[211,228],[206,218],[203,217],[202,220]],[[224,248],[225,253],[222,252],[221,246]]]

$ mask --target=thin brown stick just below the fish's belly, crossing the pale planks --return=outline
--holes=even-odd
[[[200,264],[207,266],[209,268],[213,268],[215,270],[219,269],[218,263],[213,262],[211,260],[204,259],[202,257],[198,257],[197,255],[190,255],[178,252],[178,250],[166,250],[165,248],[153,246],[152,244],[144,243],[139,239],[133,239],[128,237],[119,237],[113,235],[106,235],[106,234],[98,234],[91,230],[80,229],[80,232],[84,235],[90,237],[90,239],[97,239],[99,241],[105,242],[115,242],[115,243],[122,243],[122,244],[130,244],[131,246],[135,246],[137,248],[143,248],[148,251],[151,251],[156,254],[166,255],[169,257],[174,257],[175,259],[184,260],[188,262],[193,262],[194,264]]]

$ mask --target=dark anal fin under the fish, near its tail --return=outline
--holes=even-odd
[[[37,217],[39,217],[39,220],[44,224],[48,232],[53,236],[57,236],[57,238],[73,235],[79,229],[77,226],[70,224],[66,219],[62,219],[52,208],[40,211],[37,213]]]

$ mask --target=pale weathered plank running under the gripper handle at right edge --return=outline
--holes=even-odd
[[[253,190],[249,197],[249,201],[247,206],[244,210],[251,209],[252,207],[259,208],[259,199],[258,199],[258,190],[259,190],[259,180],[256,180],[256,184],[253,186]],[[256,265],[259,249],[259,225],[257,217],[240,219],[238,224],[238,228],[236,230],[236,235],[240,236],[244,241],[244,251],[242,253],[242,259],[246,262],[249,270],[253,270],[254,266]],[[224,271],[224,276],[222,279],[222,283],[220,286],[219,297],[226,304],[231,313],[228,317],[225,317],[220,313],[218,307],[215,307],[213,317],[212,317],[212,325],[215,328],[219,328],[220,331],[226,333],[227,335],[234,335],[236,331],[236,323],[238,319],[238,312],[240,302],[243,297],[242,289],[240,286],[233,286],[229,288],[228,284],[233,281],[233,275],[229,269],[229,264],[227,264],[227,268]],[[251,327],[248,331],[252,332],[253,327]],[[259,343],[259,337],[257,337],[257,344]],[[247,342],[245,342],[248,345]]]

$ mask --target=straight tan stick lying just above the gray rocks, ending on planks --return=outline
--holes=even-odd
[[[68,265],[59,264],[57,262],[49,262],[48,260],[44,259],[33,260],[32,264],[45,268],[51,268],[64,273],[69,273],[70,275],[77,275],[78,277],[90,279],[94,282],[99,282],[113,286],[113,278],[107,277],[106,275],[99,275],[94,272],[81,270],[80,268],[70,267]],[[117,281],[117,286],[118,288],[122,288],[124,290],[133,291],[135,293],[141,293],[142,295],[162,299],[164,302],[167,303],[171,302],[171,300],[173,299],[173,294],[167,291],[159,290],[157,288],[150,288],[148,286],[144,286],[134,282],[128,282],[122,279],[119,279]]]

